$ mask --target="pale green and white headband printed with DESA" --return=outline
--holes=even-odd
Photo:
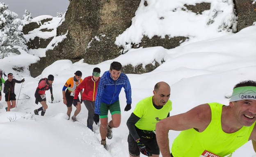
[[[238,100],[256,100],[256,87],[255,86],[244,86],[233,89],[233,93],[230,98],[230,102]]]

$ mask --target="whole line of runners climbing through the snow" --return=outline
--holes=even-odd
[[[91,76],[81,79],[82,72],[76,71],[62,88],[63,103],[67,106],[67,115],[71,116],[72,104],[76,107],[71,117],[81,110],[83,102],[88,109],[87,127],[93,130],[93,122],[101,121],[101,144],[106,148],[106,138],[112,139],[112,128],[121,123],[121,109],[119,93],[124,88],[126,107],[131,109],[131,86],[126,74],[121,72],[122,65],[112,62],[110,70],[100,77],[101,70],[94,68]],[[1,72],[1,71],[0,71]],[[1,74],[2,76],[2,74]],[[52,83],[54,77],[49,75],[39,81],[35,97],[41,108],[34,110],[38,115],[44,115],[47,109],[45,91],[50,89],[53,101]],[[14,85],[25,80],[15,80],[8,74],[5,83],[5,99],[15,101]],[[83,92],[82,92],[83,90]],[[81,99],[78,95],[81,95]],[[8,97],[7,97],[8,96]],[[230,98],[229,105],[206,103],[192,108],[186,113],[170,116],[172,102],[169,100],[170,86],[166,82],[158,82],[153,89],[153,95],[139,101],[133,113],[127,120],[129,130],[128,150],[130,157],[146,156],[158,157],[160,151],[163,157],[224,157],[240,146],[252,140],[256,148],[256,82],[252,80],[236,84]],[[7,99],[8,98],[8,99]],[[1,99],[1,97],[0,97]],[[8,104],[7,101],[7,104]],[[182,100],[181,100],[182,102]],[[15,102],[7,107],[15,107]],[[108,122],[108,111],[112,120]],[[169,150],[169,130],[181,133],[174,139]]]

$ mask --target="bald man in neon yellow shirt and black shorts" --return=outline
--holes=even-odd
[[[169,117],[170,86],[165,82],[158,82],[153,94],[138,102],[127,120],[130,157],[139,157],[140,152],[152,157],[160,154],[154,130],[157,122]]]

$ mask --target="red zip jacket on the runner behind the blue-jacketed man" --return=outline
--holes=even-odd
[[[79,92],[82,90],[82,88],[84,88],[84,92],[82,93],[82,100],[89,100],[94,102],[100,79],[101,77],[99,77],[99,79],[94,82],[92,80],[92,76],[85,77],[84,80],[75,89],[74,99],[78,98]]]

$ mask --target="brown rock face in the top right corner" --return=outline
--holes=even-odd
[[[256,3],[252,4],[252,2],[252,0],[234,0],[238,16],[237,31],[256,22]]]

